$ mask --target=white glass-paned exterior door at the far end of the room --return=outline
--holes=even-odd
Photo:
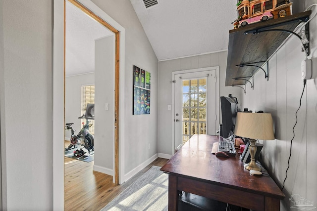
[[[174,75],[174,149],[194,134],[216,134],[216,70]]]

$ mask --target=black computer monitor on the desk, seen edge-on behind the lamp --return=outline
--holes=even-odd
[[[237,113],[240,111],[240,104],[237,101],[234,97],[220,97],[223,138],[233,135]]]

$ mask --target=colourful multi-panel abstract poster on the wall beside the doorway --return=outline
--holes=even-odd
[[[151,73],[133,66],[133,115],[150,114]]]

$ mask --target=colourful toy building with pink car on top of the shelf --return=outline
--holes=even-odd
[[[289,0],[238,0],[238,18],[232,22],[234,28],[292,14]]]

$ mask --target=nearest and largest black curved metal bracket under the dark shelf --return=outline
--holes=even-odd
[[[302,22],[303,20],[300,19],[298,21]],[[251,31],[246,31],[244,34],[248,35],[248,34],[252,33],[252,35],[256,35],[256,34],[259,34],[261,32],[273,32],[273,31],[286,32],[286,33],[295,35],[296,37],[298,37],[300,39],[301,43],[303,43],[303,47],[302,48],[304,48],[304,49],[302,49],[302,51],[305,51],[306,56],[308,56],[310,54],[309,24],[305,24],[305,36],[303,35],[303,37],[306,37],[306,38],[303,38],[299,34],[293,32],[293,31],[290,31],[290,30],[286,30],[286,29],[262,29],[262,28],[260,28],[260,29],[255,29],[255,30],[251,30]],[[307,41],[303,42],[303,40],[307,40]]]

